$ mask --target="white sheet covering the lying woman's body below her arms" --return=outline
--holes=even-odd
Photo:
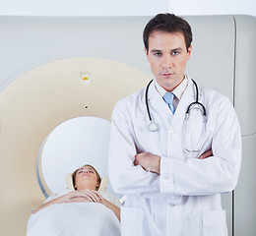
[[[120,222],[96,203],[59,204],[32,214],[27,236],[120,236]]]

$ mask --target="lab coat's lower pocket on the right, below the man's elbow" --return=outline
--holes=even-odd
[[[227,236],[225,210],[203,211],[203,235]]]

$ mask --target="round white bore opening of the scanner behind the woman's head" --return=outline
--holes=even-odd
[[[92,164],[101,177],[107,175],[109,132],[107,120],[78,117],[63,122],[46,137],[36,166],[46,198],[66,190],[65,177],[82,165]]]

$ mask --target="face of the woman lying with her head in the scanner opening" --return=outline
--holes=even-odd
[[[75,178],[75,189],[96,190],[97,187],[99,187],[99,183],[97,181],[96,171],[88,165],[79,168]]]

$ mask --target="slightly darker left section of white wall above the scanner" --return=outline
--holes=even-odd
[[[168,10],[168,0],[0,0],[0,15],[151,16]]]

